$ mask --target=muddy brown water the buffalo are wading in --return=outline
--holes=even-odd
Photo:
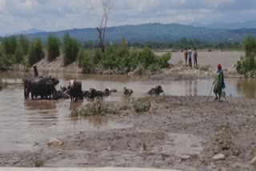
[[[213,80],[146,81],[141,77],[106,76],[93,74],[51,74],[60,79],[59,85],[68,85],[71,78],[82,81],[82,89],[118,89],[105,101],[122,101],[124,86],[134,89],[134,97],[146,95],[148,89],[162,85],[166,95],[208,96]],[[37,143],[45,143],[55,137],[65,137],[81,130],[126,128],[132,125],[118,125],[107,117],[90,117],[72,120],[70,110],[81,107],[89,101],[70,103],[70,100],[31,101],[24,99],[22,78],[25,73],[2,72],[8,85],[0,91],[0,151],[23,151],[37,149]],[[143,81],[142,81],[143,80]],[[58,86],[59,86],[58,85]],[[57,87],[58,89],[58,87]],[[256,79],[226,79],[226,96],[256,97]],[[213,93],[212,93],[213,95]],[[227,97],[227,99],[228,99]]]

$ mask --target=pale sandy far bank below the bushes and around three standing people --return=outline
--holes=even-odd
[[[162,55],[164,52],[155,52],[157,55]],[[45,58],[37,62],[38,71],[40,73],[74,73],[74,74],[129,74],[129,75],[153,75],[153,78],[214,78],[216,75],[216,67],[218,63],[222,64],[226,78],[242,78],[235,68],[236,62],[244,53],[241,51],[198,51],[199,68],[190,69],[185,66],[183,53],[172,53],[170,66],[158,72],[143,71],[142,67],[138,66],[134,71],[128,72],[125,68],[122,70],[104,70],[102,67],[95,67],[94,70],[83,70],[78,67],[78,62],[73,62],[68,66],[63,66],[62,57],[58,57],[53,62],[47,61]],[[183,64],[179,62],[182,61]],[[33,73],[33,68],[20,65],[6,67],[3,70],[17,70]]]

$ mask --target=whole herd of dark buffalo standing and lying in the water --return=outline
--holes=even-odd
[[[103,91],[96,89],[89,89],[82,91],[82,82],[70,80],[69,86],[60,86],[60,90],[55,89],[55,85],[58,85],[59,80],[57,78],[47,77],[29,77],[24,80],[24,97],[27,99],[31,95],[31,99],[41,97],[41,99],[68,99],[71,101],[82,100],[86,98],[104,97],[110,96],[111,93],[116,93],[116,89],[106,88]],[[159,95],[162,93],[162,86],[156,85],[156,87],[148,91],[149,94]],[[132,89],[124,88],[125,95],[131,95],[134,93]]]

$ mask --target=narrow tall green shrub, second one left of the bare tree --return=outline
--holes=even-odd
[[[49,36],[47,38],[47,46],[46,47],[47,47],[49,61],[52,61],[58,57],[58,55],[60,54],[59,46],[60,46],[60,41],[58,38],[55,38],[53,36]]]

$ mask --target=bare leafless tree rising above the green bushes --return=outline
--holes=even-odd
[[[110,14],[110,0],[102,0],[103,15],[100,26],[97,27],[98,38],[100,46],[102,47],[102,53],[105,52],[105,34],[106,34],[106,23]]]

